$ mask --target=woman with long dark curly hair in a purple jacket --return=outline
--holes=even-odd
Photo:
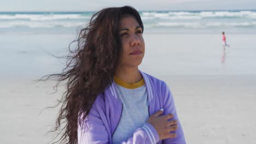
[[[185,143],[166,83],[139,71],[143,23],[132,7],[98,11],[78,38],[58,83],[67,91],[57,119],[67,143]],[[49,78],[48,77],[48,78]]]

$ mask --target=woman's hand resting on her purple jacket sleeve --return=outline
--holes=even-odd
[[[171,131],[177,130],[178,125],[176,120],[168,121],[173,118],[173,115],[167,114],[161,116],[164,110],[159,110],[149,117],[148,123],[153,125],[156,131],[158,131],[159,139],[164,140],[168,138],[176,137],[176,133],[170,133]]]

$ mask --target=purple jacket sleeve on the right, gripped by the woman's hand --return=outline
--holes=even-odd
[[[181,122],[179,122],[179,118],[178,118],[177,111],[176,111],[176,108],[175,108],[172,93],[170,91],[170,88],[166,85],[166,83],[165,83],[164,87],[162,88],[162,92],[164,94],[163,95],[164,104],[163,104],[163,107],[162,107],[162,109],[164,109],[164,115],[166,115],[168,113],[172,113],[173,114],[172,119],[176,119],[178,121],[178,129],[176,131],[174,131],[174,133],[177,134],[177,137],[165,139],[165,140],[163,140],[163,143],[184,144],[186,142],[185,142],[185,137],[184,137],[183,129],[182,129],[182,126],[181,126]]]

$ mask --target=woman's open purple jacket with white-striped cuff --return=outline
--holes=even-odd
[[[164,81],[156,79],[141,71],[145,81],[148,100],[149,100],[149,116],[156,111],[164,109],[164,114],[173,114],[172,119],[178,121],[174,100],[170,89]],[[122,103],[117,97],[117,87],[113,82],[110,87],[99,94],[92,105],[89,115],[86,117],[86,123],[83,127],[78,127],[78,143],[112,143],[112,135],[119,123],[122,112]],[[175,131],[177,137],[159,140],[159,135],[155,128],[145,123],[143,127],[133,132],[133,136],[129,137],[122,143],[186,143],[181,123],[178,121],[178,129]]]

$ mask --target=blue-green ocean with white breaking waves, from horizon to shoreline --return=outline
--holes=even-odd
[[[95,12],[0,12],[0,33],[73,34]],[[146,33],[256,33],[256,10],[140,11]]]

